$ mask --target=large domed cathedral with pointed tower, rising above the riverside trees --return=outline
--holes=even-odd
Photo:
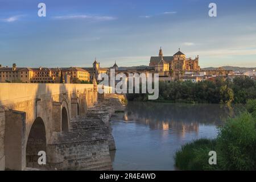
[[[200,71],[199,56],[195,59],[186,57],[179,49],[173,56],[163,56],[163,50],[160,48],[158,56],[152,56],[150,66],[155,67],[155,71]]]

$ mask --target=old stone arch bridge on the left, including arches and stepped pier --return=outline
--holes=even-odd
[[[112,169],[114,140],[89,113],[96,105],[95,83],[0,83],[0,170]],[[46,152],[45,165],[39,151]]]

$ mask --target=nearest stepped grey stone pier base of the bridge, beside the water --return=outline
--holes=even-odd
[[[109,129],[99,119],[76,117],[68,133],[54,133],[47,146],[48,169],[111,170]]]

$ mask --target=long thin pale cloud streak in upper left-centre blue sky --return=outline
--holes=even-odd
[[[57,20],[67,20],[67,19],[89,19],[89,20],[100,20],[108,21],[115,20],[117,18],[113,16],[95,16],[95,15],[63,15],[63,16],[53,16],[53,19]]]

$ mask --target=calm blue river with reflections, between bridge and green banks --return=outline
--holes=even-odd
[[[234,109],[218,104],[129,102],[112,118],[114,170],[175,170],[174,154],[199,138],[215,138]]]

